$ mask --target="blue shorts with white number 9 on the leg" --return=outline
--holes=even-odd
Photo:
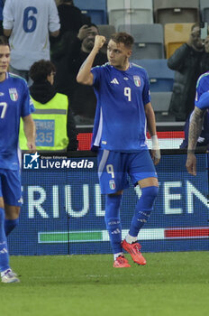
[[[111,194],[129,188],[128,175],[134,185],[142,179],[158,177],[148,150],[137,153],[99,150],[97,163],[102,194]]]

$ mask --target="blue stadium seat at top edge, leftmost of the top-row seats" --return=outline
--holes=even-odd
[[[91,17],[91,22],[95,24],[106,24],[106,1],[105,0],[74,0],[83,14]]]

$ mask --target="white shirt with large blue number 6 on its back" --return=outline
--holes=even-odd
[[[28,81],[35,61],[50,60],[51,36],[59,35],[59,14],[54,0],[6,0],[4,33],[11,47],[11,71]]]

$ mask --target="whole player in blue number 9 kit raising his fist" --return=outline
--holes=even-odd
[[[98,175],[105,194],[105,224],[114,252],[114,267],[130,267],[123,256],[129,252],[138,265],[146,265],[137,236],[150,217],[159,191],[154,163],[159,163],[159,142],[150,104],[146,70],[132,64],[133,38],[115,33],[107,46],[108,63],[92,69],[95,55],[103,47],[104,36],[95,36],[95,46],[77,74],[77,82],[93,85],[97,98],[92,150],[98,150]],[[153,150],[146,144],[147,124]],[[151,159],[152,158],[152,159]],[[154,163],[153,163],[154,162]],[[131,228],[122,242],[120,204],[127,174],[141,187]]]

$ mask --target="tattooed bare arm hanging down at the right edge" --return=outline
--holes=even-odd
[[[204,120],[204,110],[199,107],[195,107],[192,120],[189,125],[188,134],[188,149],[186,159],[186,169],[192,175],[196,175],[196,158],[195,158],[195,146],[197,139],[202,131],[202,125]]]

